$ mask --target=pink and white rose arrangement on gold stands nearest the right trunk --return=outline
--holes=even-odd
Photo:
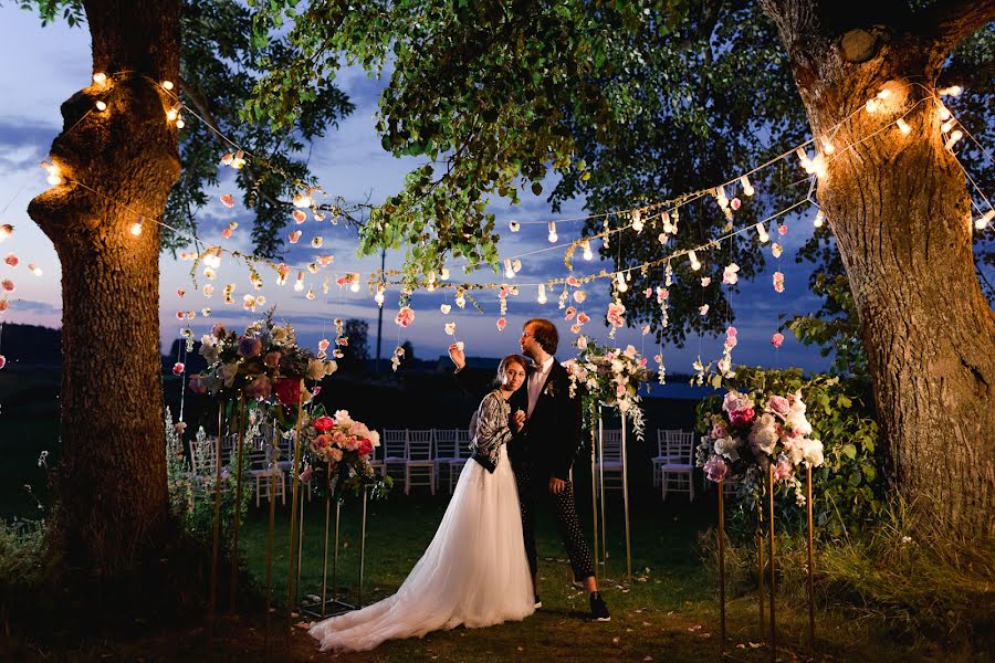
[[[774,466],[774,478],[795,492],[805,504],[796,470],[803,464],[823,464],[823,443],[814,440],[806,418],[802,392],[788,396],[730,390],[722,399],[721,412],[702,420],[705,434],[698,446],[696,465],[713,482],[735,478],[758,492],[762,478]]]

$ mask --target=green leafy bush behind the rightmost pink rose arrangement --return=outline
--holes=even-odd
[[[800,369],[768,370],[739,367],[724,387],[741,391],[778,394],[802,391],[813,439],[821,440],[825,463],[813,470],[813,517],[818,532],[829,537],[867,529],[884,505],[884,450],[873,420],[865,385],[838,376],[806,376]],[[720,397],[704,399],[698,407],[699,427],[716,407]],[[757,496],[741,499],[730,532],[744,536],[756,526]],[[799,532],[805,527],[805,509],[796,506],[794,494],[779,491],[777,527]]]

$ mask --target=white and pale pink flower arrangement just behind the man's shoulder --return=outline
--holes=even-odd
[[[633,346],[610,348],[578,336],[579,354],[576,359],[564,362],[570,376],[570,397],[578,388],[584,390],[585,419],[589,425],[597,421],[598,406],[604,403],[628,417],[632,421],[636,436],[643,440],[642,399],[639,385],[649,378],[646,357],[641,357]]]

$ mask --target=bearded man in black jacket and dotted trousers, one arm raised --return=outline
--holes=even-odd
[[[590,600],[590,617],[608,621],[611,615],[598,591],[590,549],[580,530],[580,519],[574,503],[574,486],[569,481],[574,456],[580,446],[582,411],[579,396],[570,398],[570,379],[566,369],[553,356],[559,345],[556,326],[544,318],[525,323],[521,337],[522,352],[532,359],[525,389],[519,389],[510,402],[512,412],[525,413],[524,434],[509,443],[507,453],[519,486],[522,507],[522,534],[525,552],[532,571],[532,585],[536,585],[535,503],[536,494],[548,501],[556,516],[556,524],[566,546],[574,569],[574,577],[584,582]],[[455,364],[455,376],[467,388],[463,367],[467,358],[457,344],[449,347],[449,356]],[[542,607],[538,594],[536,608]]]

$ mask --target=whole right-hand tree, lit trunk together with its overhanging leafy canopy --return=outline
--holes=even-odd
[[[285,15],[273,7],[258,24]],[[538,193],[551,168],[563,178],[554,199],[584,192],[595,211],[631,208],[737,175],[794,143],[807,116],[817,150],[823,138],[838,146],[824,155],[816,196],[859,315],[892,478],[925,516],[921,527],[995,535],[995,450],[982,442],[995,425],[995,316],[975,275],[971,197],[936,93],[953,49],[992,20],[995,2],[760,8],[766,18],[718,1],[314,2],[286,35],[296,64],[261,81],[252,107],[285,117],[307,81],[343,60],[390,72],[384,146],[428,162],[371,214],[363,249],[406,245],[409,287],[448,255],[494,264],[489,198],[516,202],[520,186]],[[862,110],[886,87],[879,110]],[[911,134],[894,127],[899,117]],[[663,158],[681,148],[672,164]],[[793,180],[808,185],[786,165],[764,178],[757,209],[744,206],[754,220],[789,198]],[[677,248],[724,231],[714,206],[692,213],[699,222],[690,231],[684,222]],[[627,255],[612,256],[620,264],[652,255],[654,238],[625,241]],[[721,250],[723,263],[757,260],[746,242]],[[647,277],[658,284],[660,274]],[[721,292],[710,296],[723,303]],[[688,299],[677,305],[684,324],[661,335],[680,340],[687,325],[702,326]]]

